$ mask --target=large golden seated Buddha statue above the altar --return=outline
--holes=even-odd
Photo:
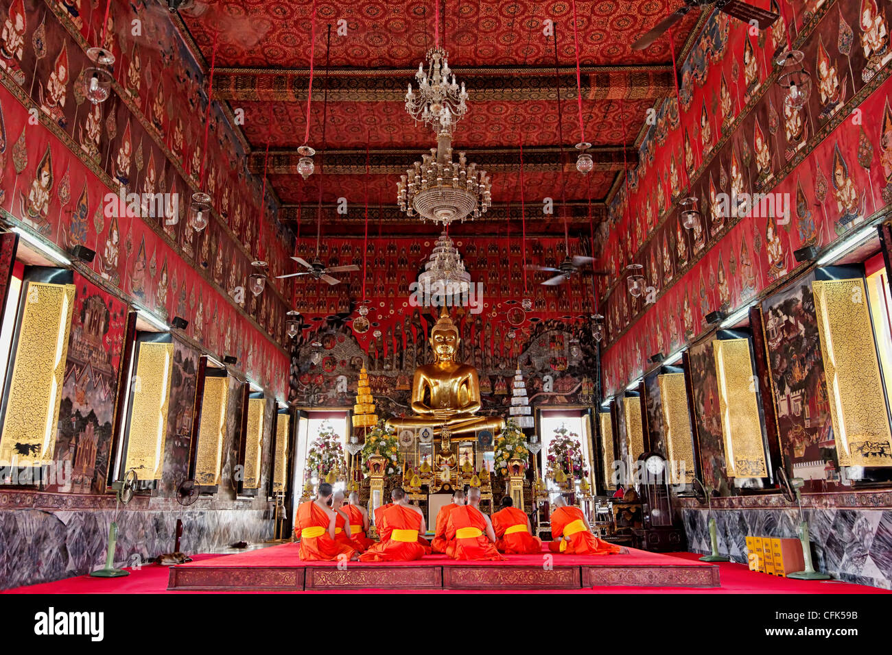
[[[495,434],[505,427],[505,420],[500,416],[476,415],[482,406],[480,381],[473,366],[455,361],[458,342],[458,328],[443,307],[440,320],[431,330],[434,362],[418,366],[412,380],[410,406],[414,414],[389,419],[388,427],[445,429],[452,438],[461,440],[477,430],[492,430]]]

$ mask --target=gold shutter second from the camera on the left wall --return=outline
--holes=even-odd
[[[161,479],[172,370],[172,343],[139,344],[125,458],[125,468],[136,469],[139,479]]]

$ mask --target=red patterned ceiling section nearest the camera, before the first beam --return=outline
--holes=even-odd
[[[643,52],[631,44],[651,29],[681,0],[580,0],[576,4],[582,64],[647,64],[669,61],[668,40],[657,40]],[[234,67],[297,68],[310,64],[310,19],[313,3],[305,0],[211,0],[183,12],[186,27],[207,61],[219,34],[217,63]],[[454,65],[504,66],[554,63],[553,37],[543,34],[543,21],[558,24],[558,61],[574,63],[572,5],[537,3],[445,2],[441,36]],[[200,14],[200,15],[196,15]],[[682,43],[696,25],[692,11],[676,28]],[[345,20],[346,35],[338,34]],[[330,64],[386,68],[416,66],[434,44],[434,3],[332,2],[317,3],[316,65],[325,62],[326,30],[330,24]],[[565,27],[566,26],[566,27]]]

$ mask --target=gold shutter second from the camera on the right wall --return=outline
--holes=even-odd
[[[749,340],[714,340],[713,355],[728,477],[765,478],[768,465]]]

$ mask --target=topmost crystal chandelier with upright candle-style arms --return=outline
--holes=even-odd
[[[458,86],[455,74],[450,80],[449,53],[437,46],[427,51],[427,72],[424,62],[418,64],[415,78],[418,80],[417,92],[406,92],[406,111],[413,119],[423,121],[434,128],[435,134],[452,129],[467,113],[467,91],[465,83]]]

